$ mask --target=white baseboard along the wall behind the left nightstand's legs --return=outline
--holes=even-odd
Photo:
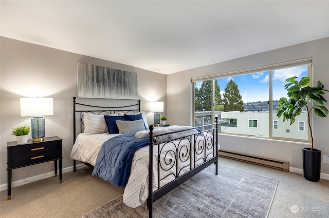
[[[84,165],[83,163],[77,164],[77,169],[82,169],[84,167],[86,167],[86,165]],[[62,173],[71,172],[71,171],[73,171],[73,166],[69,166],[69,167],[66,167],[66,168],[62,169]],[[59,170],[57,170],[57,175],[59,175],[59,173],[60,173]],[[49,178],[49,177],[54,177],[54,171],[42,173],[40,175],[36,175],[36,176],[33,176],[33,177],[24,178],[22,180],[13,181],[11,183],[11,188],[31,183],[29,181],[35,182],[35,181],[38,181],[38,180],[41,180],[41,179],[46,179],[46,178]],[[57,177],[59,177],[59,176],[57,176]],[[64,181],[64,179],[63,179],[63,181]],[[7,189],[8,189],[8,183],[0,185],[0,191],[7,190]]]

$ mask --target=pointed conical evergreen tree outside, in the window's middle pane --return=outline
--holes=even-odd
[[[225,93],[223,94],[224,111],[240,111],[243,112],[243,100],[237,84],[230,79],[225,86]]]

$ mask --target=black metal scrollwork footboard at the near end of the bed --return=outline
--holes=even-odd
[[[183,160],[182,162],[186,162],[187,159],[189,159],[190,160],[190,164],[189,164],[190,170],[188,172],[184,173],[183,175],[180,175],[180,171],[178,171],[177,170],[178,167],[176,167],[176,173],[174,175],[176,179],[171,181],[170,183],[160,187],[160,165],[161,165],[161,168],[163,168],[162,164],[161,164],[163,162],[161,162],[161,160],[160,160],[161,152],[160,152],[159,145],[165,143],[165,145],[163,145],[163,146],[166,146],[166,144],[171,143],[171,141],[154,143],[153,142],[154,137],[161,136],[161,135],[166,135],[166,134],[154,135],[153,134],[153,129],[154,129],[153,125],[149,126],[149,129],[150,129],[150,140],[149,140],[149,144],[150,144],[150,147],[149,147],[150,148],[150,151],[149,151],[150,163],[149,163],[149,198],[148,198],[148,201],[147,201],[148,209],[149,209],[149,217],[152,217],[152,210],[153,210],[152,209],[152,204],[153,204],[153,202],[155,202],[156,200],[158,200],[163,195],[165,195],[169,191],[173,190],[174,188],[176,188],[180,184],[182,184],[185,181],[189,180],[194,175],[196,175],[198,172],[200,172],[203,169],[207,168],[211,164],[215,164],[215,175],[218,175],[218,163],[217,163],[218,118],[217,117],[215,118],[215,123],[213,123],[213,124],[195,127],[194,129],[197,129],[197,128],[207,128],[207,129],[203,130],[202,132],[197,133],[197,134],[191,134],[191,135],[188,135],[188,136],[179,137],[179,138],[176,138],[176,139],[172,140],[172,141],[176,141],[176,140],[179,141],[178,145],[175,144],[176,150],[172,152],[172,154],[175,154],[174,157],[176,157],[176,159],[175,160],[170,159],[169,162],[167,163],[167,165],[172,165],[172,167],[173,167],[174,164],[175,164],[173,162],[178,162],[178,159],[181,160],[181,158],[185,158],[185,160]],[[193,128],[191,128],[191,129],[193,129]],[[184,131],[184,130],[182,130],[182,131]],[[181,132],[181,131],[177,131],[177,132]],[[173,133],[177,133],[177,132],[173,132]],[[205,133],[206,136],[203,135],[203,133]],[[209,141],[210,137],[207,137],[208,134],[212,135],[211,141]],[[205,141],[199,141],[199,143],[196,144],[198,137],[204,137]],[[183,148],[182,147],[179,148],[180,142],[184,139],[189,140],[189,142],[190,142],[189,143],[189,145],[190,145],[189,148],[187,147],[185,149],[184,146],[186,146],[186,145],[184,145]],[[204,144],[200,144],[202,142],[204,142]],[[192,154],[192,146],[193,145],[194,145],[194,147],[193,147],[194,152]],[[157,175],[158,188],[155,191],[153,191],[153,180],[152,180],[152,178],[153,178],[152,166],[153,166],[153,149],[154,149],[154,146],[158,146],[157,147],[158,148],[158,160],[157,160],[158,161],[158,166],[157,166],[158,167],[158,172],[157,172],[158,173],[158,175]],[[198,149],[196,149],[197,147],[198,147]],[[185,149],[185,150],[182,150],[182,149]],[[212,154],[207,155],[207,153],[206,153],[207,149],[213,149]],[[166,151],[166,152],[168,154],[168,151]],[[196,155],[201,155],[203,153],[204,153],[203,158],[196,159]],[[194,156],[193,161],[192,161],[192,155]],[[212,157],[211,157],[211,155],[212,155]],[[164,157],[163,159],[165,159],[165,163],[166,163],[166,157]],[[204,162],[202,164],[196,166],[196,162],[199,161],[200,159],[203,159]],[[178,164],[178,163],[176,163],[176,164]],[[166,169],[166,170],[168,171],[171,168]],[[150,190],[152,190],[152,191],[150,191]]]

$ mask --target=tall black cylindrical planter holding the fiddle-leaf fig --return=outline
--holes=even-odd
[[[304,177],[308,181],[319,182],[321,174],[321,150],[309,147],[303,148]]]

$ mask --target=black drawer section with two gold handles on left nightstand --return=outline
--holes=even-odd
[[[42,163],[62,157],[61,141],[35,143],[8,148],[8,168]]]

